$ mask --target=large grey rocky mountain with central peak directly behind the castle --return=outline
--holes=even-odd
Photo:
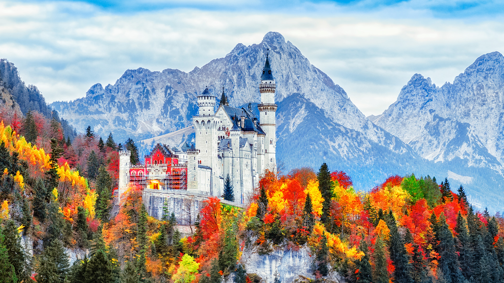
[[[390,174],[428,173],[409,146],[370,122],[341,87],[275,32],[260,44],[237,44],[225,57],[189,73],[127,70],[113,86],[96,84],[85,98],[51,106],[76,128],[91,125],[102,136],[112,132],[118,141],[134,136],[142,139],[142,148],[178,143],[191,139],[187,129],[183,137],[154,136],[192,125],[196,96],[206,86],[216,94],[224,86],[232,106],[253,102],[256,108],[267,48],[277,82],[277,160],[287,170],[318,169],[327,162],[332,170],[348,171],[363,189]]]

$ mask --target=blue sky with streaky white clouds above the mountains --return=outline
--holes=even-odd
[[[0,58],[47,102],[114,84],[124,70],[189,72],[280,32],[367,116],[415,73],[436,85],[504,52],[503,1],[0,0]]]

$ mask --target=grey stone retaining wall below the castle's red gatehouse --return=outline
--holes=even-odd
[[[200,212],[202,201],[208,199],[209,195],[191,193],[185,190],[153,190],[145,189],[142,199],[149,216],[156,219],[163,217],[163,203],[167,201],[168,210],[171,214],[175,213],[179,225],[194,224],[198,213]],[[222,203],[231,204],[237,207],[244,207],[232,201],[219,198]],[[191,218],[191,221],[190,221]]]

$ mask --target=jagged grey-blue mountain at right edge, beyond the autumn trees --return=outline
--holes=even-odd
[[[450,170],[458,183],[467,183],[474,202],[495,197],[491,206],[504,203],[498,193],[504,181],[504,57],[499,52],[480,56],[442,87],[413,75],[395,103],[368,118]]]

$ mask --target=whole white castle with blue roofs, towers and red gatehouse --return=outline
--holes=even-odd
[[[248,109],[230,107],[224,94],[206,88],[198,97],[199,115],[193,116],[196,145],[181,149],[157,144],[145,164],[129,165],[131,153],[119,152],[119,195],[130,182],[146,189],[186,189],[221,196],[227,175],[235,202],[244,203],[266,169],[275,170],[276,84],[268,55],[261,76],[259,119]]]

